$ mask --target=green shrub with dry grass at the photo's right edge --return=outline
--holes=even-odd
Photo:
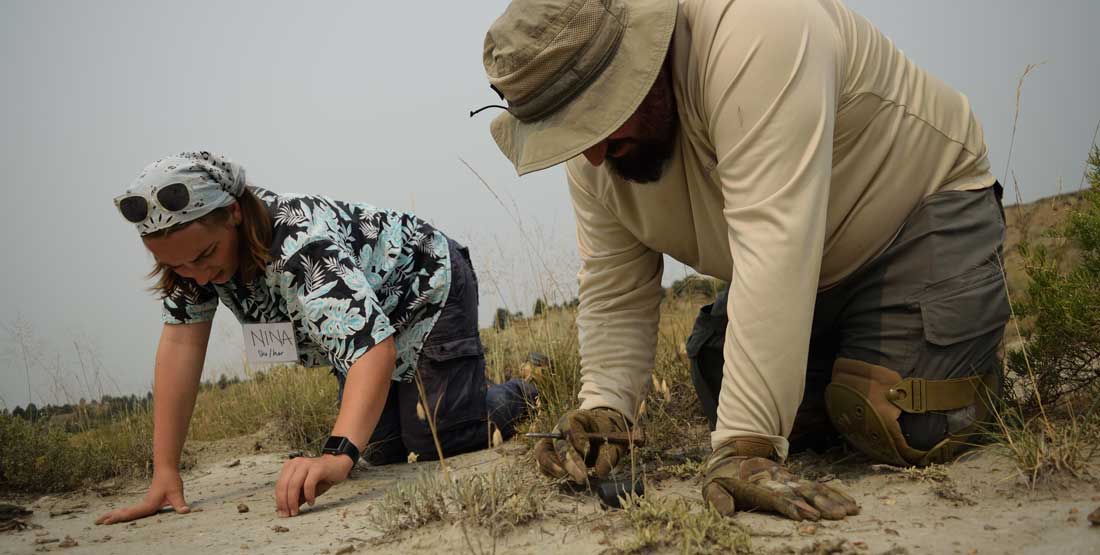
[[[993,444],[1034,487],[1058,475],[1084,477],[1100,451],[1100,149],[1086,167],[1088,190],[1064,222],[1018,246],[1024,295],[1009,290],[1010,330],[1020,343],[1005,358],[1004,393],[986,426]],[[1019,192],[1018,192],[1019,196]],[[1052,207],[1056,206],[1052,202]],[[1037,209],[1038,203],[1033,209]],[[1018,208],[1018,214],[1021,209]],[[1026,225],[1027,218],[1018,221]],[[1008,284],[1019,282],[1008,277]]]

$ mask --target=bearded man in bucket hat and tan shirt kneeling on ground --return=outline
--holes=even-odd
[[[835,429],[926,464],[983,418],[1009,309],[981,127],[839,0],[514,0],[484,63],[508,103],[493,137],[520,175],[566,163],[576,213],[581,406],[543,471],[618,463],[578,432],[636,418],[662,253],[730,284],[693,337],[724,328],[723,368],[694,365],[721,512],[855,514],[789,451]]]

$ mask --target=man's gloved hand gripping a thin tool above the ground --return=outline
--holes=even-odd
[[[614,409],[571,410],[554,426],[554,432],[561,432],[564,439],[539,440],[535,444],[535,460],[547,476],[569,478],[578,485],[588,482],[590,467],[597,478],[606,478],[629,447],[588,441],[583,435],[626,431],[626,419]]]

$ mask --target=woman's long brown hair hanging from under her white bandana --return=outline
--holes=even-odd
[[[244,281],[252,281],[263,274],[264,267],[271,260],[268,248],[272,241],[272,218],[264,203],[248,187],[238,197],[237,202],[241,206],[241,225],[238,227],[240,232],[238,241],[240,266],[238,271],[241,273],[241,278]],[[194,223],[211,225],[226,223],[228,220],[229,207],[222,207],[198,220],[173,225],[166,230],[150,233],[145,237],[166,237]],[[172,268],[160,262],[154,263],[153,270],[148,273],[147,277],[156,280],[150,290],[157,292],[162,298],[170,296],[187,279],[176,275]]]

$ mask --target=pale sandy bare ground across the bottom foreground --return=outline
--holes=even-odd
[[[458,474],[485,471],[522,451],[506,444],[451,459]],[[492,541],[483,530],[436,523],[383,536],[366,514],[399,480],[431,471],[435,463],[356,470],[312,509],[292,519],[275,515],[273,485],[285,454],[200,457],[185,475],[194,512],[162,513],[129,524],[97,526],[96,515],[136,501],[144,484],[103,496],[45,497],[30,501],[31,528],[0,533],[0,554],[65,553],[601,553],[632,532],[617,511],[605,511],[588,496],[556,493],[550,515]],[[234,464],[235,460],[239,464]],[[850,492],[861,513],[840,522],[795,523],[766,514],[741,513],[759,553],[1100,553],[1100,526],[1087,515],[1100,506],[1096,480],[1069,480],[1028,490],[1008,460],[978,453],[947,467],[947,481],[921,480],[886,467],[821,459],[795,460],[807,476]],[[532,469],[534,471],[534,469]],[[697,499],[692,480],[666,480],[653,496]],[[22,500],[26,504],[28,500]],[[240,512],[239,506],[248,506]],[[52,515],[53,514],[53,515]],[[75,546],[64,547],[66,539]],[[847,541],[843,547],[837,544]],[[676,550],[667,550],[675,553]]]

